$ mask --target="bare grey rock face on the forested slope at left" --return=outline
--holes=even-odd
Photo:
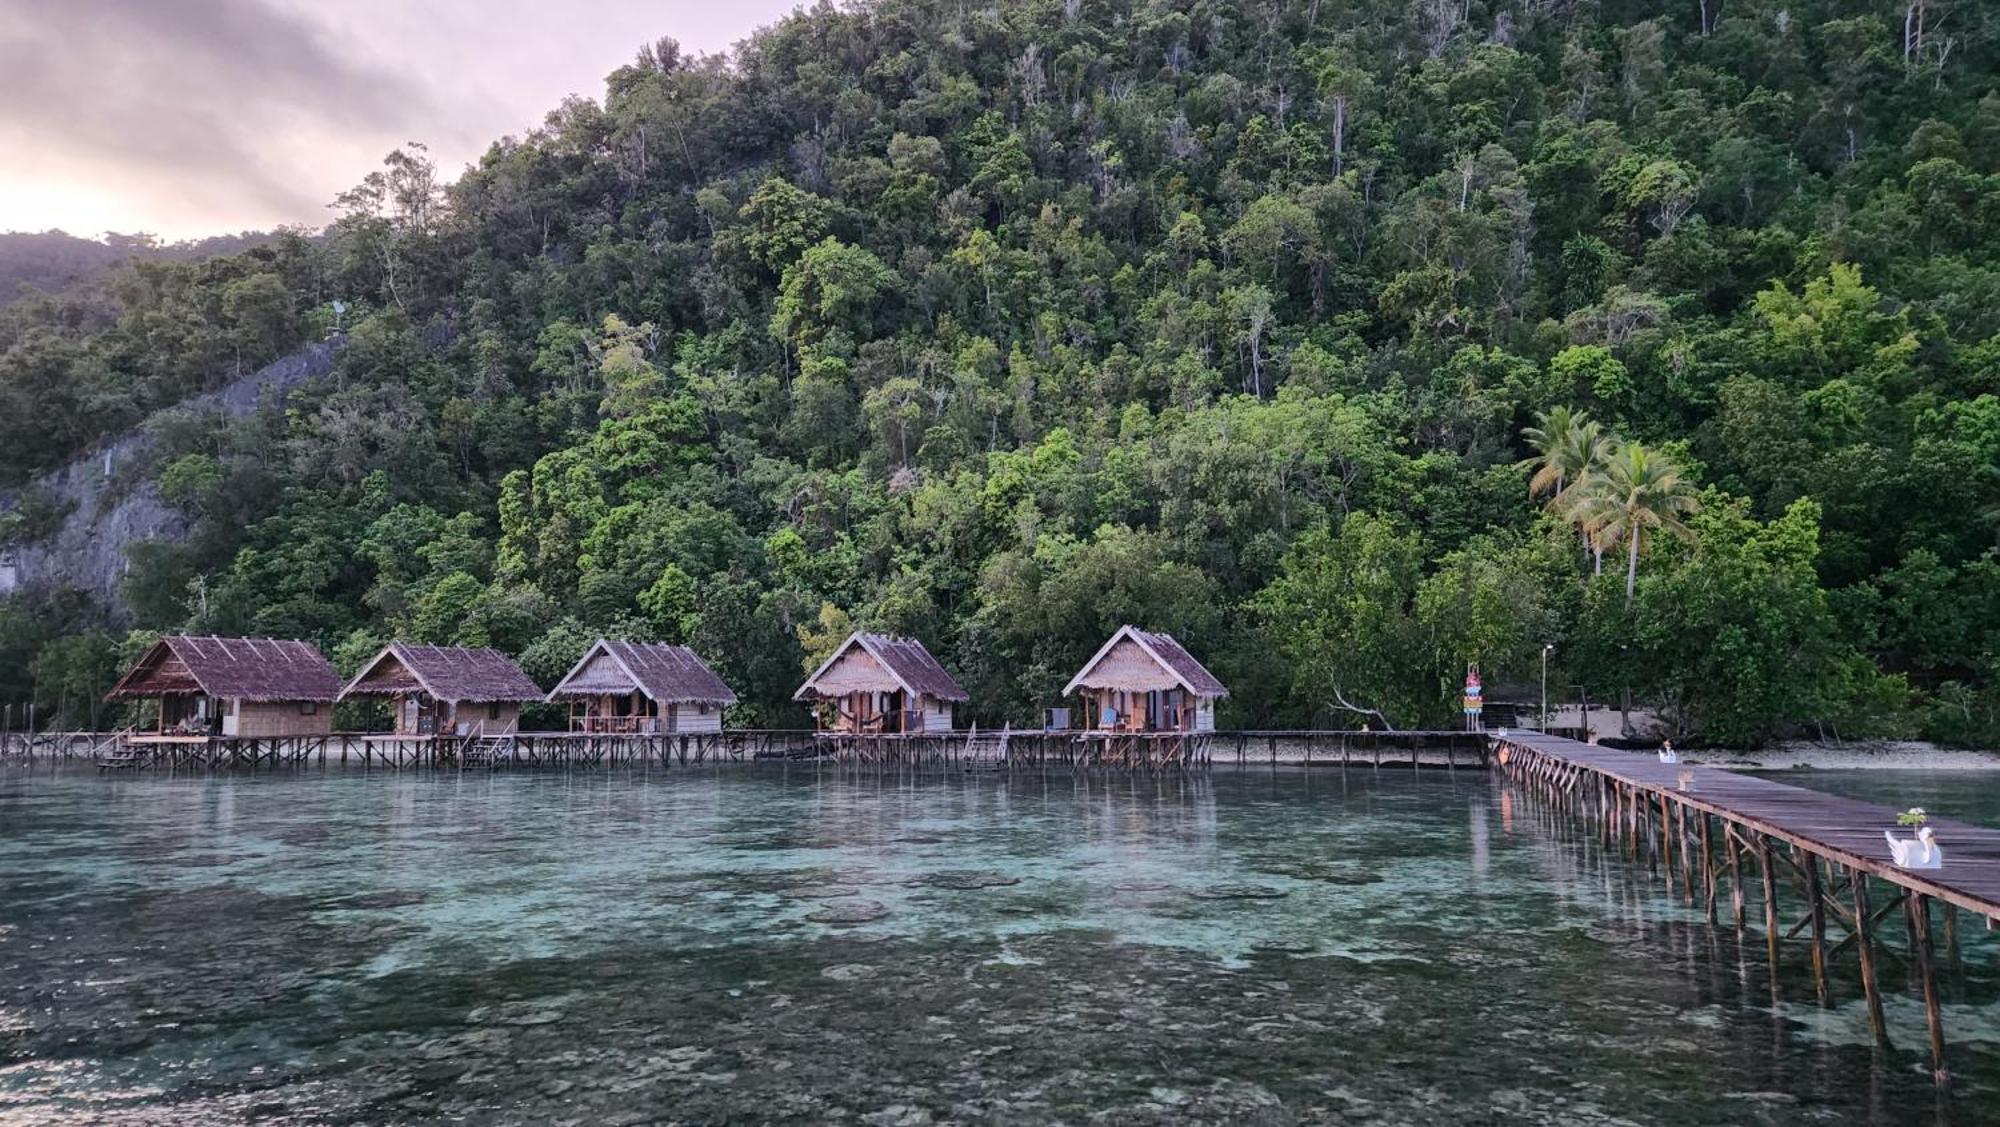
[[[332,372],[334,350],[336,342],[310,344],[234,384],[168,410],[248,416],[266,396],[282,396],[306,380]],[[112,617],[122,621],[126,607],[118,583],[126,573],[126,546],[140,540],[176,540],[188,532],[186,520],[160,502],[152,482],[130,490],[118,488],[118,468],[152,448],[154,420],[34,482],[32,488],[62,504],[68,516],[44,542],[0,548],[0,595],[12,589],[78,587],[104,601]],[[14,510],[18,502],[14,494],[0,494],[0,512]]]

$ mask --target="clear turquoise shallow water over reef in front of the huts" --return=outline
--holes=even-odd
[[[0,1123],[1976,1123],[1996,967],[1940,1101],[1472,771],[0,767]]]

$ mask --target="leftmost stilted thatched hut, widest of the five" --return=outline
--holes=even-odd
[[[112,687],[112,701],[158,701],[152,739],[284,739],[332,733],[340,675],[310,641],[192,637],[154,641]]]

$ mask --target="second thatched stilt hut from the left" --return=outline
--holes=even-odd
[[[394,735],[492,737],[520,731],[520,705],[542,687],[498,649],[390,641],[340,699],[388,699]]]

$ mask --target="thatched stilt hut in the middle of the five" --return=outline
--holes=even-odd
[[[736,693],[686,645],[600,637],[548,699],[570,703],[570,731],[652,735],[722,731]]]

